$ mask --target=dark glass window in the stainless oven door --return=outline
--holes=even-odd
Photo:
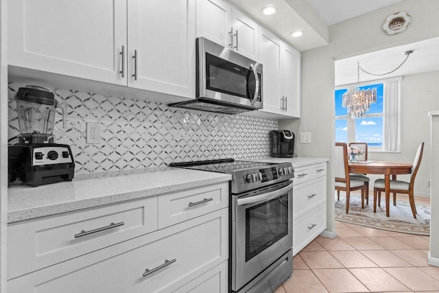
[[[246,209],[246,261],[288,235],[288,194]]]

